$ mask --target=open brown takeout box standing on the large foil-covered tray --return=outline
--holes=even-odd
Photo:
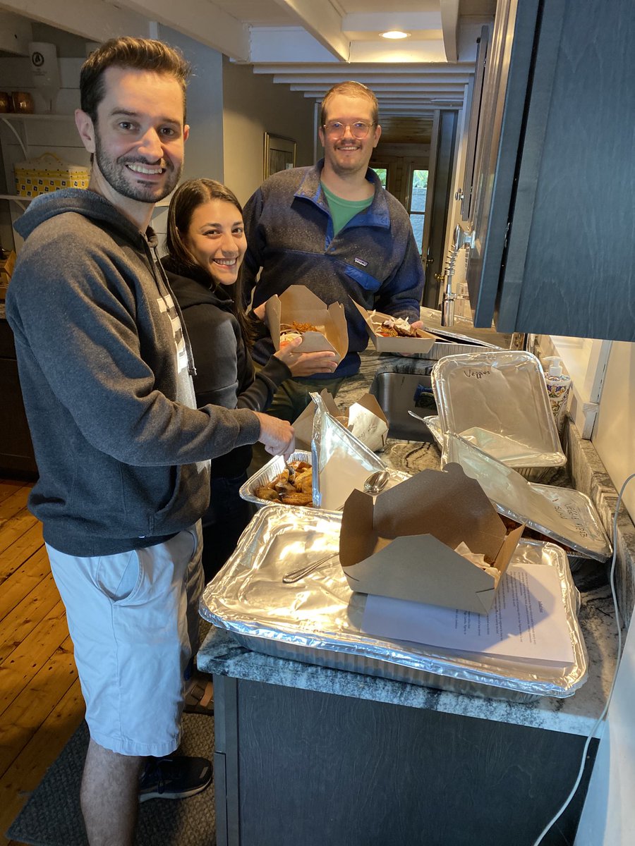
[[[353,491],[342,514],[340,563],[353,591],[488,613],[523,528],[507,533],[478,481],[447,464],[374,502]],[[498,585],[455,552],[461,541],[493,561]]]

